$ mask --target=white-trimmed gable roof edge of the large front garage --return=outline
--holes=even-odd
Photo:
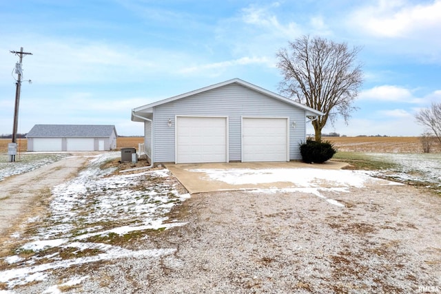
[[[185,98],[185,97],[192,96],[192,95],[195,95],[195,94],[199,94],[199,93],[202,93],[202,92],[205,92],[205,91],[213,90],[213,89],[216,89],[218,87],[223,87],[225,85],[229,85],[229,84],[233,84],[233,83],[237,83],[238,85],[242,85],[243,87],[247,87],[247,88],[249,88],[251,90],[254,90],[256,92],[260,92],[260,93],[265,94],[265,95],[267,95],[267,96],[269,96],[271,98],[275,98],[277,100],[283,101],[283,102],[285,102],[285,103],[287,103],[289,105],[294,105],[296,107],[299,107],[300,109],[305,109],[305,111],[307,112],[307,116],[322,116],[323,115],[322,112],[319,112],[318,110],[316,110],[314,108],[307,107],[306,105],[302,105],[301,103],[298,103],[298,102],[296,102],[296,101],[294,101],[292,99],[286,98],[284,96],[281,96],[281,95],[276,94],[274,92],[271,92],[269,90],[265,90],[262,87],[258,87],[256,85],[253,85],[252,83],[248,83],[246,81],[243,81],[240,78],[233,78],[231,80],[228,80],[228,81],[225,81],[225,82],[222,82],[222,83],[217,83],[217,84],[214,84],[214,85],[209,85],[207,87],[203,87],[201,89],[194,90],[192,92],[187,92],[187,93],[184,93],[184,94],[181,94],[181,95],[178,95],[178,96],[173,96],[173,97],[170,97],[170,98],[167,98],[167,99],[163,99],[161,101],[157,101],[157,102],[154,102],[154,103],[150,103],[150,104],[147,104],[147,105],[136,107],[136,108],[132,109],[132,120],[136,120],[136,116],[134,117],[134,114],[136,112],[143,112],[143,113],[153,112],[153,107],[155,107],[155,106],[162,105],[162,104],[165,104],[165,103],[169,103],[169,102],[172,102],[172,101],[176,101],[176,100],[181,99],[181,98]]]

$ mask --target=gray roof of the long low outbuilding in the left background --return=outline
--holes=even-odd
[[[34,125],[26,138],[30,137],[110,137],[114,125]]]

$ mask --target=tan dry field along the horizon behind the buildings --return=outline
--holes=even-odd
[[[143,137],[119,137],[116,140],[116,149],[135,147],[143,143]],[[378,153],[422,153],[420,138],[418,137],[324,137],[329,140],[339,151],[349,152],[378,152]],[[10,139],[0,139],[0,154],[8,152]],[[20,139],[19,151],[28,149],[28,140]],[[438,143],[433,144],[432,152],[440,152]]]

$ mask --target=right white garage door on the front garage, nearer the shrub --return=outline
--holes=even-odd
[[[242,161],[289,161],[287,118],[243,118]]]

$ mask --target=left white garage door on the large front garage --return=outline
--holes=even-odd
[[[227,162],[227,118],[177,118],[176,163],[196,162]]]

